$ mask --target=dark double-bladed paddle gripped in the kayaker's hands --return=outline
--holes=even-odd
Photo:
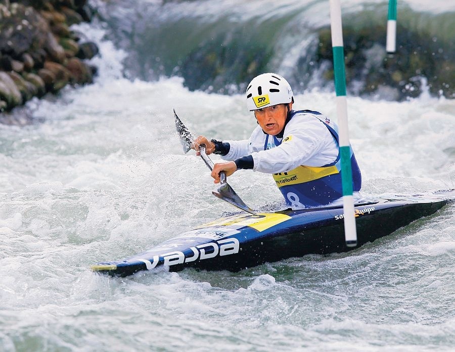
[[[177,130],[178,136],[180,137],[180,143],[181,146],[183,147],[183,150],[186,153],[189,152],[191,149],[191,145],[194,143],[194,136],[190,132],[190,130],[184,125],[183,122],[178,118],[177,114],[175,113],[174,110],[174,118],[175,118],[175,129]],[[199,146],[199,153],[201,155],[202,160],[204,161],[205,165],[210,170],[213,170],[213,162],[210,160],[210,158],[207,156],[205,153],[205,148],[206,145],[202,144]],[[232,204],[233,206],[247,212],[253,215],[257,215],[253,210],[248,207],[243,200],[237,195],[237,193],[234,191],[234,189],[228,184],[226,173],[225,172],[220,172],[219,173],[220,177],[220,184],[217,187],[216,190],[212,191],[213,195],[216,197],[224,200],[225,202],[228,202]]]

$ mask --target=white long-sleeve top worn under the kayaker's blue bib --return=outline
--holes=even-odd
[[[251,155],[253,170],[269,174],[287,172],[300,165],[316,167],[333,163],[338,157],[338,144],[320,120],[326,116],[317,116],[319,118],[309,112],[295,114],[287,123],[283,138],[278,138],[279,141],[288,140],[275,146],[274,137],[269,135],[267,143],[271,145],[266,150],[267,134],[257,126],[249,139],[226,140],[231,147],[221,158],[235,160]]]

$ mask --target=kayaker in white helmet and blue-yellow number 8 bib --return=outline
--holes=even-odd
[[[293,209],[342,204],[338,127],[317,111],[292,110],[294,95],[288,81],[275,73],[255,77],[246,91],[248,110],[259,126],[246,140],[195,139],[195,149],[228,162],[215,164],[211,176],[232,175],[239,169],[272,174],[286,203]],[[199,155],[199,152],[197,152]],[[360,199],[360,169],[351,148],[354,201]]]

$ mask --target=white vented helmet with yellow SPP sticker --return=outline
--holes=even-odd
[[[288,81],[276,73],[263,73],[253,78],[246,94],[249,111],[294,101]]]

